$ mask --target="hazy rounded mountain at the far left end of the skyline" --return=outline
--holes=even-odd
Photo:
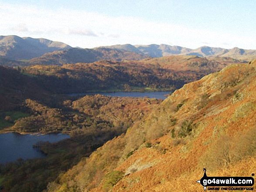
[[[15,35],[0,36],[0,56],[11,60],[28,60],[45,53],[66,50],[69,45],[48,39],[34,39]]]

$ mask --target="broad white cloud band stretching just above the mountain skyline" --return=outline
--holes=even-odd
[[[16,35],[58,40],[73,47],[172,42],[173,45],[197,48],[201,42],[208,42],[211,47],[222,47],[225,42],[224,48],[253,48],[256,44],[254,37],[149,22],[134,17],[109,17],[82,10],[47,10],[0,3],[0,18],[0,35],[15,31]]]

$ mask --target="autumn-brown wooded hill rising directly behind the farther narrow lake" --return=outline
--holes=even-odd
[[[45,88],[55,93],[145,91],[147,88],[181,88],[185,83],[196,81],[233,63],[241,61],[222,57],[169,56],[141,61],[104,60],[63,66],[37,65],[22,70],[36,75]]]

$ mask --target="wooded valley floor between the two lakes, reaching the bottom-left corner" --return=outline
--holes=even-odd
[[[72,168],[81,158],[88,157],[106,141],[124,133],[160,102],[162,100],[107,97],[97,94],[77,100],[56,99],[53,108],[36,100],[26,99],[24,105],[20,106],[21,110],[26,112],[22,114],[25,117],[7,119],[13,126],[4,130],[0,127],[0,131],[23,134],[61,132],[71,138],[53,144],[38,142],[34,145],[47,155],[45,158],[26,161],[18,159],[6,165],[0,164],[0,191],[43,191],[48,182],[58,179],[59,174]],[[1,112],[0,115],[9,115],[12,112]],[[20,115],[21,112],[18,112]],[[3,121],[0,119],[1,124]]]

